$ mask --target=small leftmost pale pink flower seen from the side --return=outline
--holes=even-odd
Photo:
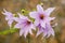
[[[8,20],[8,25],[11,27],[13,23],[13,14],[11,12],[8,12],[6,10],[3,10],[2,12],[3,15],[5,15],[5,20]]]

